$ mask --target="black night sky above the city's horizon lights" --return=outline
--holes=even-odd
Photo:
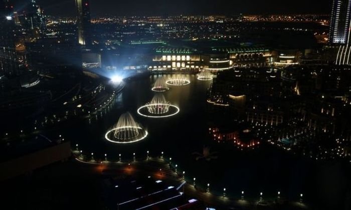
[[[24,2],[25,0],[21,0]],[[27,0],[28,1],[28,0]],[[91,0],[93,16],[329,14],[332,0]],[[74,0],[37,0],[48,15],[74,16]]]

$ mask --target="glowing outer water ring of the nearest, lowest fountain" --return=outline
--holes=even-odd
[[[137,129],[141,132],[138,132],[137,136],[134,136],[134,138],[131,139],[124,139],[125,141],[122,141],[122,139],[118,139],[115,137],[115,132],[124,132],[126,128],[131,128],[131,129]],[[142,139],[146,138],[148,135],[148,132],[144,130],[141,127],[134,127],[134,126],[125,126],[125,127],[118,127],[118,128],[113,128],[105,134],[105,139],[112,142],[112,143],[117,143],[117,144],[129,144],[129,143],[134,143],[137,141],[141,141]]]

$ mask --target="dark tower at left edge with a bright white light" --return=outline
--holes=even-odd
[[[17,75],[15,20],[9,0],[0,0],[0,76]]]

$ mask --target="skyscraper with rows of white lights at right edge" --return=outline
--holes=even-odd
[[[338,45],[337,65],[349,65],[351,62],[351,0],[333,0],[329,29],[329,43]]]

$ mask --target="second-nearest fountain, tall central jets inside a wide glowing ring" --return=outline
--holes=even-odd
[[[157,94],[146,105],[138,109],[138,114],[144,117],[163,118],[179,113],[177,106],[171,105],[163,95]]]

